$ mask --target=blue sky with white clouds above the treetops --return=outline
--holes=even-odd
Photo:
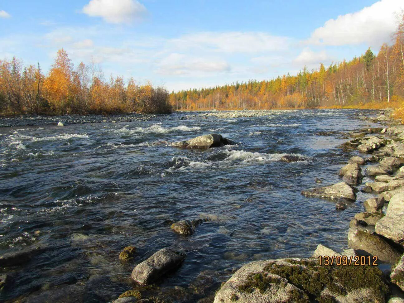
[[[168,90],[296,74],[391,42],[404,0],[0,1],[0,59],[64,48],[105,78]]]

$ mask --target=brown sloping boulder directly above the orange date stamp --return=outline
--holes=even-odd
[[[400,252],[386,240],[377,234],[355,226],[355,224],[351,224],[349,227],[348,246],[353,248],[358,255],[377,256],[379,261],[383,263],[394,264],[401,257]]]

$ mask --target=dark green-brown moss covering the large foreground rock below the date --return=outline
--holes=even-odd
[[[286,259],[289,264],[269,263],[260,273],[252,273],[247,282],[239,286],[241,292],[252,293],[256,289],[264,293],[270,284],[283,283],[280,276],[290,284],[303,290],[308,297],[302,297],[296,291],[292,294],[293,302],[316,301],[319,303],[334,303],[334,297],[322,295],[327,289],[333,294],[346,296],[348,292],[367,288],[372,291],[375,299],[383,301],[388,288],[383,281],[383,274],[377,267],[372,266],[320,266],[317,260]]]

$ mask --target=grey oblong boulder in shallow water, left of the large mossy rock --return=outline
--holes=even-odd
[[[183,251],[163,248],[136,265],[132,271],[132,279],[142,285],[152,284],[168,271],[177,269],[185,256]]]

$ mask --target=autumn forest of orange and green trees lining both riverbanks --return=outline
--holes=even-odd
[[[315,107],[401,107],[404,105],[404,15],[377,55],[370,48],[351,61],[297,75],[250,80],[214,88],[168,93],[150,83],[125,82],[121,76],[105,80],[101,69],[80,63],[76,69],[64,49],[44,75],[20,60],[0,61],[2,114],[170,113],[200,109],[274,109]],[[404,117],[404,108],[398,109]]]

